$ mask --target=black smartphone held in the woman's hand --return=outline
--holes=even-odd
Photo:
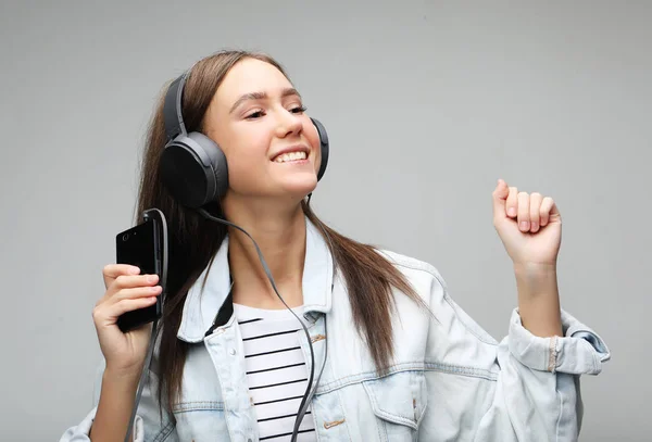
[[[161,229],[154,218],[121,231],[115,236],[117,264],[130,264],[140,268],[140,275],[159,275],[161,278]],[[145,308],[127,312],[117,318],[117,327],[129,331],[159,319],[162,314],[162,299]]]

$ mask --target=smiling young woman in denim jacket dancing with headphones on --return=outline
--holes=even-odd
[[[551,198],[502,180],[493,191],[493,225],[518,290],[499,343],[432,266],[346,238],[311,211],[326,134],[277,62],[220,52],[198,62],[181,90],[185,128],[216,143],[228,179],[215,172],[220,198],[178,201],[170,188],[199,178],[164,182],[161,157],[176,123],[162,99],[138,207],[167,218],[170,277],[134,440],[577,439],[579,376],[600,372],[610,353],[560,308],[562,226]],[[251,238],[201,210],[255,240],[274,285]],[[153,304],[158,278],[128,265],[103,274],[106,292],[93,310],[105,359],[97,407],[62,441],[122,441],[145,365],[151,327],[123,333],[116,319]]]

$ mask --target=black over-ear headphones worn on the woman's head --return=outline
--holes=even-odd
[[[163,150],[160,173],[163,185],[183,205],[198,209],[220,201],[228,189],[228,167],[222,149],[203,134],[188,134],[181,115],[184,87],[190,71],[175,79],[167,89],[163,117],[167,143]],[[328,135],[318,121],[311,118],[319,136],[322,164],[317,181],[328,164]]]

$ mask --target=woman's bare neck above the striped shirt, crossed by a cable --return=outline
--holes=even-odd
[[[249,216],[248,216],[249,215]],[[243,228],[259,244],[278,292],[290,307],[303,304],[305,218],[297,206],[291,213],[261,216],[239,212],[231,223]],[[234,282],[234,302],[256,308],[285,308],[260,262],[249,237],[230,228],[228,262]]]

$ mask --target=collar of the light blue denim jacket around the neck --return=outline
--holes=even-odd
[[[305,218],[305,261],[303,264],[303,311],[330,312],[334,279],[333,256],[328,245],[308,217]],[[224,239],[212,265],[206,266],[188,290],[177,338],[201,342],[225,302],[231,303],[228,266],[228,236]],[[202,288],[204,278],[205,286]],[[283,293],[280,293],[283,295]],[[228,308],[227,308],[228,311]],[[230,316],[230,315],[229,315]]]

